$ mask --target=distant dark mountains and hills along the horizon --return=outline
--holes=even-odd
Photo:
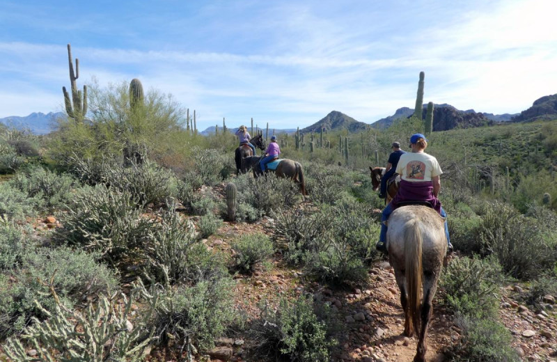
[[[427,105],[424,104],[422,116],[425,118]],[[347,129],[349,132],[359,132],[370,127],[375,129],[385,129],[392,125],[394,120],[400,118],[408,118],[414,113],[414,109],[402,107],[395,111],[392,116],[388,116],[377,120],[371,124],[363,123],[354,118],[347,116],[339,111],[331,111],[327,116],[317,121],[311,126],[300,129],[301,132],[320,132],[323,127],[327,131]],[[29,116],[9,116],[0,118],[0,123],[11,125],[17,128],[29,128],[36,134],[47,134],[52,131],[54,120],[59,117],[65,117],[63,112],[50,113],[31,113]],[[515,114],[493,114],[476,112],[473,109],[461,111],[450,104],[434,104],[433,129],[435,131],[444,131],[453,128],[480,127],[483,125],[494,125],[501,122],[531,122],[533,120],[551,120],[557,119],[557,94],[546,95],[533,102],[532,107]],[[218,127],[222,132],[222,127]],[[231,133],[237,131],[237,128],[227,128]],[[201,134],[207,136],[214,134],[215,127],[208,127]],[[263,129],[265,132],[265,129]],[[272,132],[269,129],[269,132]],[[274,129],[275,134],[294,133],[296,129]],[[254,132],[255,133],[255,132]],[[253,135],[252,135],[253,136]]]

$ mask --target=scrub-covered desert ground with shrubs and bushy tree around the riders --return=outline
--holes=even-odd
[[[382,260],[383,202],[366,169],[424,127],[457,250],[438,305],[458,333],[439,350],[519,361],[500,315],[509,290],[556,319],[555,122],[432,132],[412,117],[284,134],[284,155],[304,165],[303,198],[273,174],[235,175],[232,134],[201,136],[189,110],[137,79],[87,94],[52,134],[0,129],[0,359],[381,359],[377,330],[363,326],[374,352],[350,352],[345,315],[348,299],[374,298]],[[271,275],[272,286],[259,278]],[[374,315],[356,321],[375,328]]]

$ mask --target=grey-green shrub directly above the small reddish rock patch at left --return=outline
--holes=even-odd
[[[72,197],[70,191],[76,180],[70,175],[58,175],[40,166],[27,168],[10,180],[10,184],[28,197],[44,200],[45,207],[61,207]]]

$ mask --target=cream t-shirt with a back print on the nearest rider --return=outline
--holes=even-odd
[[[441,175],[441,166],[432,155],[425,152],[407,152],[400,156],[396,173],[400,178],[409,182],[431,181],[435,176]]]

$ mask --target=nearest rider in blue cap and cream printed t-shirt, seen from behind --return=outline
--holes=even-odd
[[[388,253],[386,247],[386,221],[398,206],[398,203],[407,201],[427,202],[432,205],[434,210],[439,212],[441,217],[447,217],[445,210],[441,207],[441,202],[437,198],[441,190],[439,176],[443,171],[441,171],[441,166],[439,166],[439,162],[437,162],[435,157],[423,152],[427,147],[425,136],[420,133],[412,134],[409,147],[412,149],[412,152],[401,155],[395,169],[395,172],[400,175],[398,194],[396,194],[389,205],[386,205],[381,218],[381,233],[375,248],[383,253]],[[447,254],[450,254],[453,252],[453,244],[450,244],[446,219],[445,235],[447,238]]]

